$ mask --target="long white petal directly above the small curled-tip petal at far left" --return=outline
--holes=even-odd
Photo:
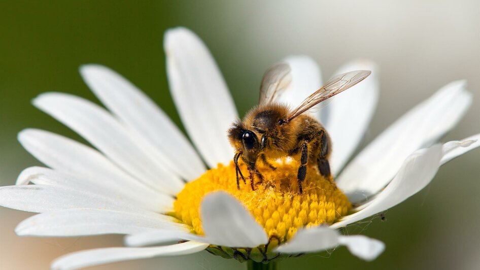
[[[33,128],[22,130],[18,140],[31,155],[55,170],[120,185],[151,201],[161,194],[126,174],[98,151],[74,140]]]

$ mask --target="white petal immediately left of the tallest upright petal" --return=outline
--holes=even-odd
[[[192,180],[205,166],[190,142],[158,106],[140,89],[108,67],[89,64],[80,69],[95,95],[131,128],[135,136],[170,170]]]

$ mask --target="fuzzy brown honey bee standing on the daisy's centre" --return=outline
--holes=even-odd
[[[239,178],[246,183],[238,166],[241,158],[247,165],[250,185],[255,190],[254,176],[263,181],[256,164],[260,160],[275,170],[268,162],[290,156],[300,160],[297,180],[300,194],[306,166],[314,164],[319,173],[330,178],[328,163],[332,151],[330,137],[323,125],[306,112],[330,97],[356,85],[370,75],[370,71],[352,71],[334,76],[320,89],[307,96],[296,108],[276,102],[291,82],[290,65],[280,62],[271,66],[264,74],[260,86],[259,104],[251,109],[243,120],[237,120],[228,130],[228,140],[235,149],[233,161],[236,171],[236,185]],[[322,103],[322,105],[325,103]]]

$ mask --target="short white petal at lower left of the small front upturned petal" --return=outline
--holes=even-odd
[[[163,245],[166,243],[177,242],[181,240],[210,243],[209,239],[200,235],[192,234],[188,231],[149,230],[141,231],[132,235],[127,235],[125,237],[125,245],[130,247],[141,247],[150,245]]]

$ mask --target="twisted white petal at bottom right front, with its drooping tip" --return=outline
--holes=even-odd
[[[378,257],[385,249],[384,243],[364,235],[340,235],[338,231],[328,227],[313,227],[299,230],[293,239],[278,247],[281,253],[318,252],[347,246],[349,251],[364,260]]]

